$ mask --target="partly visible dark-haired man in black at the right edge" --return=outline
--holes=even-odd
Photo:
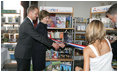
[[[106,12],[106,17],[108,17],[114,24],[117,29],[117,3],[113,4],[109,10]],[[113,51],[113,59],[117,61],[117,40],[111,43]]]

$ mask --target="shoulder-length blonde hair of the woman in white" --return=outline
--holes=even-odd
[[[99,40],[101,42],[102,39],[104,39],[105,35],[106,29],[101,21],[93,20],[90,24],[88,24],[85,34],[88,44],[92,44],[96,40]]]

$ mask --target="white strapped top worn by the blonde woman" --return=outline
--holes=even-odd
[[[96,57],[95,58],[90,58],[90,71],[113,71],[112,68],[112,49],[110,42],[108,39],[106,39],[109,47],[110,47],[110,52],[99,56],[95,47],[93,45],[89,45],[89,47],[92,49],[92,51],[95,53]]]

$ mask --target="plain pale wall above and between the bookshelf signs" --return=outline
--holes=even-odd
[[[39,1],[38,6],[73,7],[74,17],[90,17],[90,8],[117,3],[116,1]]]

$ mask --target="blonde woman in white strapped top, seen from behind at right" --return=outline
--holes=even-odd
[[[84,71],[112,71],[112,50],[103,23],[93,20],[86,28],[88,46],[84,48]],[[78,67],[77,70],[80,70]]]

